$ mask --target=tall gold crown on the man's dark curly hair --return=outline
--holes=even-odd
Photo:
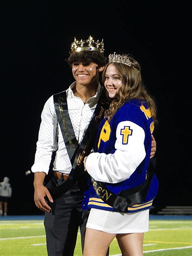
[[[75,38],[74,42],[71,43],[70,49],[71,49],[71,52],[80,52],[80,51],[104,52],[104,43],[103,43],[103,39],[101,42],[99,42],[99,40],[95,42],[91,36],[84,41],[82,39],[81,41],[78,41]]]

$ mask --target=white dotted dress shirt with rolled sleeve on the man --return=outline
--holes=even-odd
[[[96,95],[87,100],[84,104],[81,98],[73,94],[72,89],[75,85],[76,82],[70,85],[66,90],[66,95],[70,120],[76,139],[78,143],[80,143],[95,111],[103,87],[98,84]],[[48,174],[53,151],[56,151],[53,171],[69,174],[72,165],[66,150],[60,125],[58,124],[52,95],[45,103],[41,114],[41,125],[39,128],[38,141],[36,143],[35,160],[34,165],[31,167],[32,172],[45,172]]]

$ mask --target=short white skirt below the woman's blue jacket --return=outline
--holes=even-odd
[[[149,209],[117,213],[91,208],[86,227],[111,234],[144,233],[149,230]]]

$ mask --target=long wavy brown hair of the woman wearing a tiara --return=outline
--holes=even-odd
[[[143,85],[141,79],[141,66],[133,57],[128,56],[127,54],[123,54],[122,57],[129,58],[131,61],[131,66],[122,63],[111,62],[105,65],[105,68],[102,72],[102,81],[104,83],[107,67],[109,65],[114,65],[118,71],[120,79],[122,80],[122,86],[119,88],[116,98],[109,98],[107,93],[107,98],[109,99],[109,102],[111,102],[109,109],[106,111],[106,117],[108,121],[111,121],[113,115],[126,101],[132,99],[140,99],[141,101],[147,102],[148,108],[150,108],[151,111],[151,116],[154,122],[157,123],[158,120],[156,118],[156,103]]]

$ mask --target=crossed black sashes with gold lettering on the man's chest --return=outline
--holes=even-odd
[[[104,116],[105,108],[107,107],[107,103],[102,101],[101,98],[102,93],[81,144],[78,144],[68,114],[66,91],[53,95],[58,122],[66,145],[66,150],[72,164],[72,169],[68,179],[58,187],[48,188],[53,199],[61,197],[71,187],[73,187],[76,181],[79,181],[79,183],[82,181],[83,184],[86,184],[90,177],[89,174],[84,171],[83,159],[85,156],[90,154],[90,151],[93,148],[98,126]]]

